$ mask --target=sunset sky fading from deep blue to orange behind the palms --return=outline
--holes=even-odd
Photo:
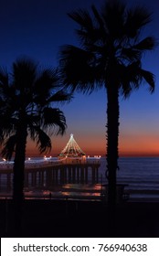
[[[67,13],[78,8],[101,6],[103,0],[1,0],[0,5],[0,66],[10,70],[13,61],[27,56],[43,67],[58,65],[58,49],[65,44],[78,45],[77,27]],[[134,5],[134,0],[125,1]],[[144,30],[147,36],[159,39],[159,1],[138,0],[154,12],[153,22]],[[143,58],[143,69],[155,75],[155,91],[148,85],[133,91],[129,99],[120,99],[120,154],[159,156],[159,48]],[[91,95],[76,93],[74,99],[62,105],[68,129],[63,137],[52,138],[52,152],[57,155],[69,141],[70,133],[87,155],[106,153],[106,91]],[[37,154],[36,146],[28,142],[27,155]]]

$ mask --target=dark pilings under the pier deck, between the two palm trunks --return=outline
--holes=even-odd
[[[88,176],[90,175],[90,183],[98,183],[99,164],[59,164],[42,167],[40,169],[26,169],[25,185],[28,186],[29,176],[31,176],[32,186],[51,187],[53,184],[88,184]]]

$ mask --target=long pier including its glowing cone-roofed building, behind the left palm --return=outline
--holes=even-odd
[[[0,189],[13,187],[14,162],[0,163]],[[69,142],[57,160],[44,157],[41,160],[28,158],[25,163],[25,187],[53,187],[63,184],[99,183],[100,156],[86,157],[70,134]]]

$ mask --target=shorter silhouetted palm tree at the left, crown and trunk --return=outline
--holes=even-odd
[[[32,59],[17,59],[12,73],[0,69],[0,143],[2,155],[10,160],[14,155],[13,198],[24,198],[26,139],[37,143],[40,153],[51,150],[54,134],[66,130],[64,113],[52,102],[70,100],[61,90],[56,69],[40,69]]]

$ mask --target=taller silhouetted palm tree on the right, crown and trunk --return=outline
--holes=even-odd
[[[80,47],[65,45],[59,51],[60,76],[69,89],[90,93],[104,88],[107,92],[107,178],[108,203],[116,204],[118,169],[119,95],[130,95],[142,81],[154,91],[154,75],[142,68],[142,57],[154,49],[154,37],[141,32],[152,19],[145,7],[128,8],[119,0],[108,0],[99,11],[85,9],[69,13],[79,26]]]

